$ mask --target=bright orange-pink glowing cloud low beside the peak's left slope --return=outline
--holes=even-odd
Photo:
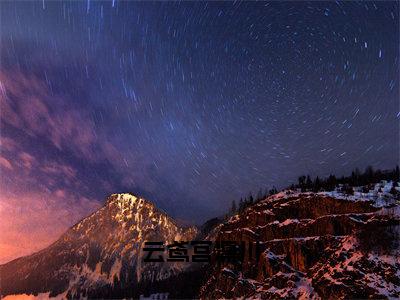
[[[72,200],[72,204],[64,197]],[[97,201],[77,198],[61,190],[53,195],[0,195],[0,264],[50,245],[99,207]]]

